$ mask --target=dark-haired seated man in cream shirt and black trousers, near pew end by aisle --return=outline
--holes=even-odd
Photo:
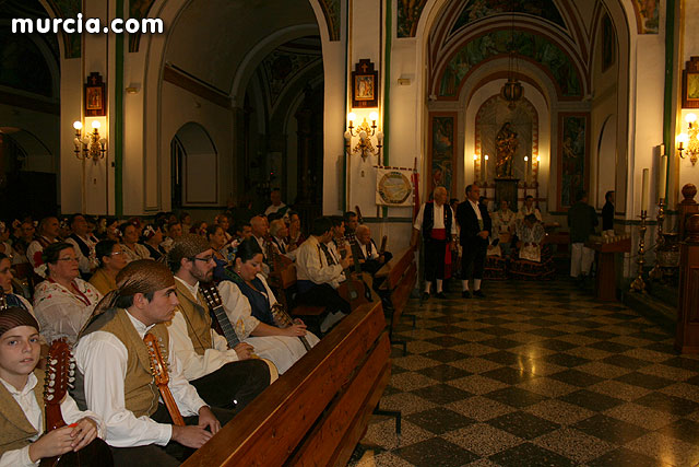
[[[332,222],[318,218],[311,225],[310,236],[298,247],[296,254],[296,278],[298,301],[312,306],[324,306],[328,315],[319,329],[325,332],[332,325],[351,312],[336,289],[345,280],[344,269],[352,264],[352,255],[336,257],[328,243],[332,240]]]

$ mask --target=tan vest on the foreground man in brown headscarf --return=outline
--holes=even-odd
[[[82,338],[97,330],[112,334],[127,348],[129,357],[127,359],[127,374],[123,381],[123,400],[127,410],[133,412],[137,418],[152,416],[157,410],[161,394],[151,374],[151,359],[147,346],[133,327],[127,311],[122,308],[107,310],[95,317],[83,329],[80,337]],[[153,326],[149,332],[162,341],[161,353],[167,362],[169,345],[167,328],[161,323]],[[75,372],[75,389],[71,395],[78,402],[78,407],[81,410],[86,410],[84,375],[80,372]]]

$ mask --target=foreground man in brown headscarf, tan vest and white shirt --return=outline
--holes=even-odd
[[[229,410],[209,407],[182,375],[165,326],[178,303],[167,266],[135,260],[119,272],[117,290],[99,302],[79,336],[73,397],[105,420],[115,465],[179,465],[182,446],[201,447],[233,418]],[[167,388],[185,427],[174,424],[158,402],[147,334],[162,346]]]

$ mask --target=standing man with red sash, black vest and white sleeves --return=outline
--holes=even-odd
[[[411,245],[418,245],[422,234],[425,244],[425,291],[422,300],[428,300],[431,283],[435,282],[437,297],[445,299],[442,281],[445,278],[445,257],[447,247],[455,247],[457,222],[454,213],[447,203],[448,194],[445,187],[437,187],[433,192],[433,201],[424,203],[413,224]]]

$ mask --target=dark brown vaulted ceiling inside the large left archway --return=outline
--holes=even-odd
[[[192,0],[173,26],[165,60],[229,93],[238,67],[256,46],[301,25],[317,27],[307,0]]]

